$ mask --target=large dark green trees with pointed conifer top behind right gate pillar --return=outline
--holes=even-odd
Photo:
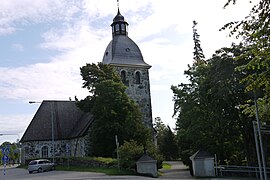
[[[198,46],[194,49],[201,49],[199,43],[194,44]],[[233,44],[216,51],[208,60],[194,51],[193,65],[185,71],[189,82],[171,87],[177,141],[184,163],[189,164],[189,156],[203,149],[217,154],[220,163],[241,164],[242,159],[247,159],[254,164],[255,151],[250,148],[254,147],[254,116],[243,112],[245,106],[251,106],[251,96],[241,83],[252,72],[235,71],[245,66],[245,58],[235,61],[245,51],[243,45]]]

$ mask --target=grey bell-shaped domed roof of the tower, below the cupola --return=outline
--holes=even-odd
[[[103,60],[104,64],[151,66],[144,62],[142,53],[137,44],[128,36],[115,36],[107,46]]]

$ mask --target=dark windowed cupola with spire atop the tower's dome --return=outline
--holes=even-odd
[[[118,35],[128,35],[128,23],[125,21],[124,16],[121,15],[119,7],[117,15],[113,18],[112,27],[112,36],[113,38]]]

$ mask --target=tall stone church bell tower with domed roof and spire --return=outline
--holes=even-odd
[[[112,40],[107,46],[102,63],[115,67],[127,86],[126,93],[139,105],[147,127],[153,127],[149,69],[137,44],[128,37],[128,23],[119,7],[113,19]]]

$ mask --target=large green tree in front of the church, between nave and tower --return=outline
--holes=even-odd
[[[91,95],[78,106],[93,114],[88,135],[88,155],[111,157],[115,153],[115,135],[120,145],[135,140],[145,145],[149,130],[143,124],[139,107],[125,93],[126,86],[110,65],[87,64],[81,75]]]

